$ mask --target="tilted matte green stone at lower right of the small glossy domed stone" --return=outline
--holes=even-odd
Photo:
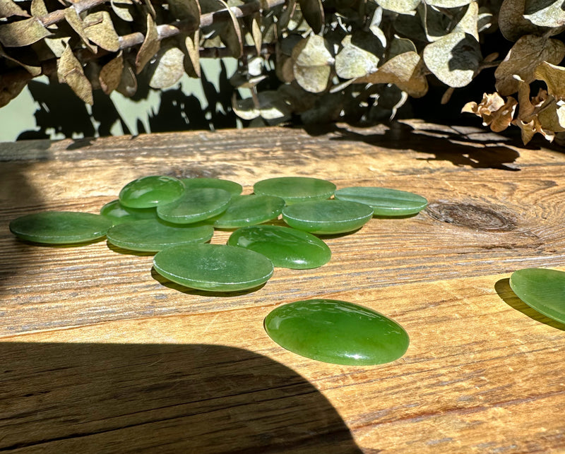
[[[159,205],[157,215],[167,222],[190,224],[219,215],[227,208],[232,195],[224,189],[186,189],[176,201]]]

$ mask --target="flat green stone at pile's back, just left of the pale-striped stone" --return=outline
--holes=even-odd
[[[257,181],[253,191],[259,196],[284,198],[287,205],[297,202],[323,200],[333,196],[335,184],[317,178],[279,177]]]

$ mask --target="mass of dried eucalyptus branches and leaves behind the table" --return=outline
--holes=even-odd
[[[501,61],[482,54],[498,28],[513,43]],[[0,0],[0,107],[40,74],[92,103],[97,89],[132,96],[142,71],[167,88],[232,56],[243,119],[379,121],[431,77],[448,102],[495,67],[496,92],[463,111],[551,140],[565,131],[564,30],[562,0]],[[531,97],[535,80],[547,89]]]

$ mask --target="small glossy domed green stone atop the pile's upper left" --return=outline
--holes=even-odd
[[[129,208],[151,208],[171,203],[184,193],[184,184],[174,177],[152,175],[130,181],[119,192],[119,201]]]

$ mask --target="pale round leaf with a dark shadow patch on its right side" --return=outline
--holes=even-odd
[[[422,57],[429,71],[453,88],[468,85],[482,60],[479,43],[464,32],[451,32],[428,44]]]

